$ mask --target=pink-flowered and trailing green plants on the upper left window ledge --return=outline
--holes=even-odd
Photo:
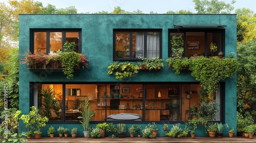
[[[73,79],[74,68],[82,67],[89,68],[88,59],[86,55],[81,53],[76,53],[75,43],[68,42],[64,44],[63,48],[65,51],[58,53],[50,53],[46,55],[42,52],[31,52],[25,53],[25,58],[22,59],[20,64],[28,64],[29,69],[45,69],[45,68],[57,68],[62,69],[63,74],[67,76],[67,79]]]

